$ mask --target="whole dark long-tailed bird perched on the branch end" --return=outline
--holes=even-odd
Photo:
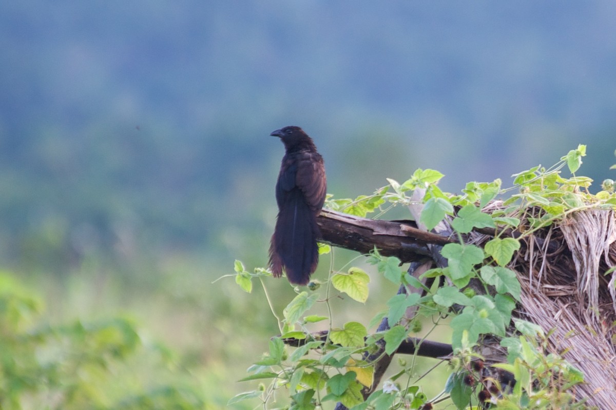
[[[286,272],[293,284],[307,284],[317,269],[317,216],[325,202],[327,181],[323,158],[300,127],[272,132],[285,144],[276,183],[278,217],[270,244],[270,267],[276,278]]]

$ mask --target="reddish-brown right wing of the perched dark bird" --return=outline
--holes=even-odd
[[[319,212],[325,202],[327,181],[323,158],[316,152],[304,151],[297,161],[295,183],[312,211]]]

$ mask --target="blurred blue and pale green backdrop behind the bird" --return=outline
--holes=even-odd
[[[615,21],[610,0],[2,2],[0,266],[43,321],[131,316],[224,406],[277,332],[261,289],[213,283],[267,262],[271,131],[302,126],[338,198],[417,167],[508,186],[578,143],[597,191]]]

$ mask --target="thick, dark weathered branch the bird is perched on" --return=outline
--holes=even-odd
[[[403,263],[431,256],[428,245],[455,242],[416,228],[412,221],[375,220],[323,209],[317,218],[322,241],[366,254],[375,247],[381,255]]]

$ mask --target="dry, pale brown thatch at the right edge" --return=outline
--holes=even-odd
[[[526,252],[514,260],[522,286],[519,316],[546,331],[555,352],[585,376],[578,398],[599,409],[616,408],[616,216],[591,209],[570,215],[539,232],[562,246],[548,254],[529,240]],[[545,241],[547,243],[547,241]]]

